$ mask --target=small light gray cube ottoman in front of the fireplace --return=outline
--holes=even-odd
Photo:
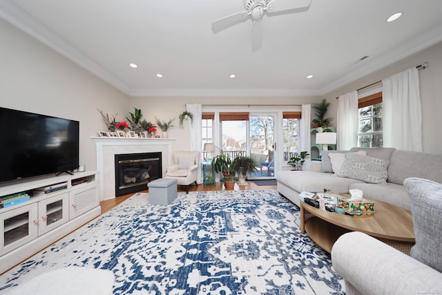
[[[166,205],[177,198],[177,180],[160,178],[147,184],[149,189],[149,203]]]

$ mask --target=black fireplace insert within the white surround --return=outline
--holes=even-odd
[[[115,154],[115,196],[147,189],[162,178],[161,152]]]

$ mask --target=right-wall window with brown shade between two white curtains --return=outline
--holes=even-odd
[[[382,93],[359,99],[358,146],[382,147]]]

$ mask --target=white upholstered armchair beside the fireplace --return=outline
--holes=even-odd
[[[201,162],[200,151],[175,151],[173,153],[175,164],[166,167],[164,178],[174,178],[178,185],[186,186],[186,193],[189,193],[189,185],[197,180],[198,169]]]

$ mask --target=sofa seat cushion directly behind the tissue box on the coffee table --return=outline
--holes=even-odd
[[[407,210],[411,209],[410,198],[401,184],[389,182],[386,184],[355,182],[349,185],[349,189],[361,189],[364,198],[368,200],[380,200]],[[374,209],[376,209],[376,202]]]

